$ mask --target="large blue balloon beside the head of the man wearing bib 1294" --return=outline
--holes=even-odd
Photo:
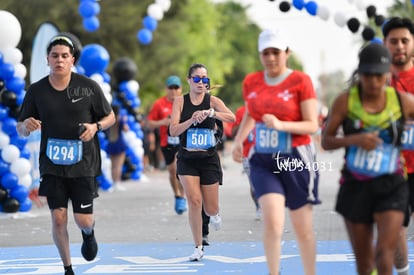
[[[79,64],[85,69],[85,74],[102,73],[109,64],[108,51],[99,44],[89,44],[83,47]]]

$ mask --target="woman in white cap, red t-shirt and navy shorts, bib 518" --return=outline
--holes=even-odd
[[[243,141],[255,131],[249,152],[250,179],[262,209],[263,244],[269,273],[279,273],[285,207],[299,244],[304,274],[316,274],[312,206],[318,200],[318,171],[311,134],[318,129],[317,101],[308,75],[287,67],[288,42],[280,30],[259,36],[264,70],[243,81],[246,111],[233,143],[243,160]]]

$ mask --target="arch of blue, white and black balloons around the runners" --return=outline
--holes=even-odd
[[[352,3],[352,0],[348,0]],[[361,3],[362,1],[356,1]],[[413,0],[414,2],[414,0]],[[369,19],[374,19],[377,26],[382,26],[386,21],[385,16],[377,14],[376,7],[359,5],[360,10],[365,9]],[[142,20],[142,28],[137,31],[136,38],[142,45],[152,42],[152,34],[157,29],[158,22],[162,20],[164,13],[169,10],[171,0],[156,0],[147,8],[147,15]],[[305,10],[311,16],[317,16],[322,20],[331,17],[328,8],[318,5],[316,1],[292,0],[281,1],[281,12],[289,12],[291,8]],[[79,14],[83,18],[83,27],[86,31],[93,32],[99,29],[100,13],[99,2],[96,0],[80,0]],[[357,33],[361,28],[361,22],[356,17],[347,17],[342,12],[333,15],[335,23],[339,27],[347,26],[352,33]],[[27,212],[32,207],[31,192],[38,185],[38,165],[36,154],[38,150],[39,136],[34,136],[35,142],[28,138],[20,137],[16,131],[17,116],[25,95],[26,67],[21,63],[22,52],[17,48],[21,39],[21,26],[17,18],[8,11],[0,10],[0,212],[13,213],[17,211]],[[134,80],[137,67],[128,57],[122,57],[114,62],[113,76],[116,87],[110,86],[110,75],[106,69],[110,62],[107,50],[98,44],[89,44],[84,47],[76,36],[67,35],[74,41],[76,53],[75,70],[100,84],[109,102],[120,107],[120,114],[127,117],[130,131],[124,135],[129,144],[127,161],[124,165],[124,174],[128,178],[139,180],[143,171],[143,138],[139,115],[136,110],[140,107],[139,83]],[[375,37],[374,30],[363,27],[362,38],[366,41],[380,42]],[[51,37],[49,37],[50,39]],[[36,140],[37,139],[37,140]],[[102,176],[98,177],[100,187],[108,190],[112,186],[110,176],[110,160],[105,148],[107,140],[104,133],[99,133],[102,145]]]

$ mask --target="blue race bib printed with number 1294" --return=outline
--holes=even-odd
[[[46,155],[59,165],[72,165],[82,159],[82,141],[49,138],[47,140]]]

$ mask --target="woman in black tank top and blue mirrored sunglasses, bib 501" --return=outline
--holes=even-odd
[[[208,93],[210,79],[203,64],[193,64],[187,75],[190,92],[175,98],[170,122],[170,134],[180,136],[177,154],[177,174],[188,200],[188,218],[195,243],[190,261],[204,256],[202,217],[210,216],[210,225],[219,230],[218,187],[221,165],[215,137],[216,119],[233,122],[235,116],[221,99]]]

